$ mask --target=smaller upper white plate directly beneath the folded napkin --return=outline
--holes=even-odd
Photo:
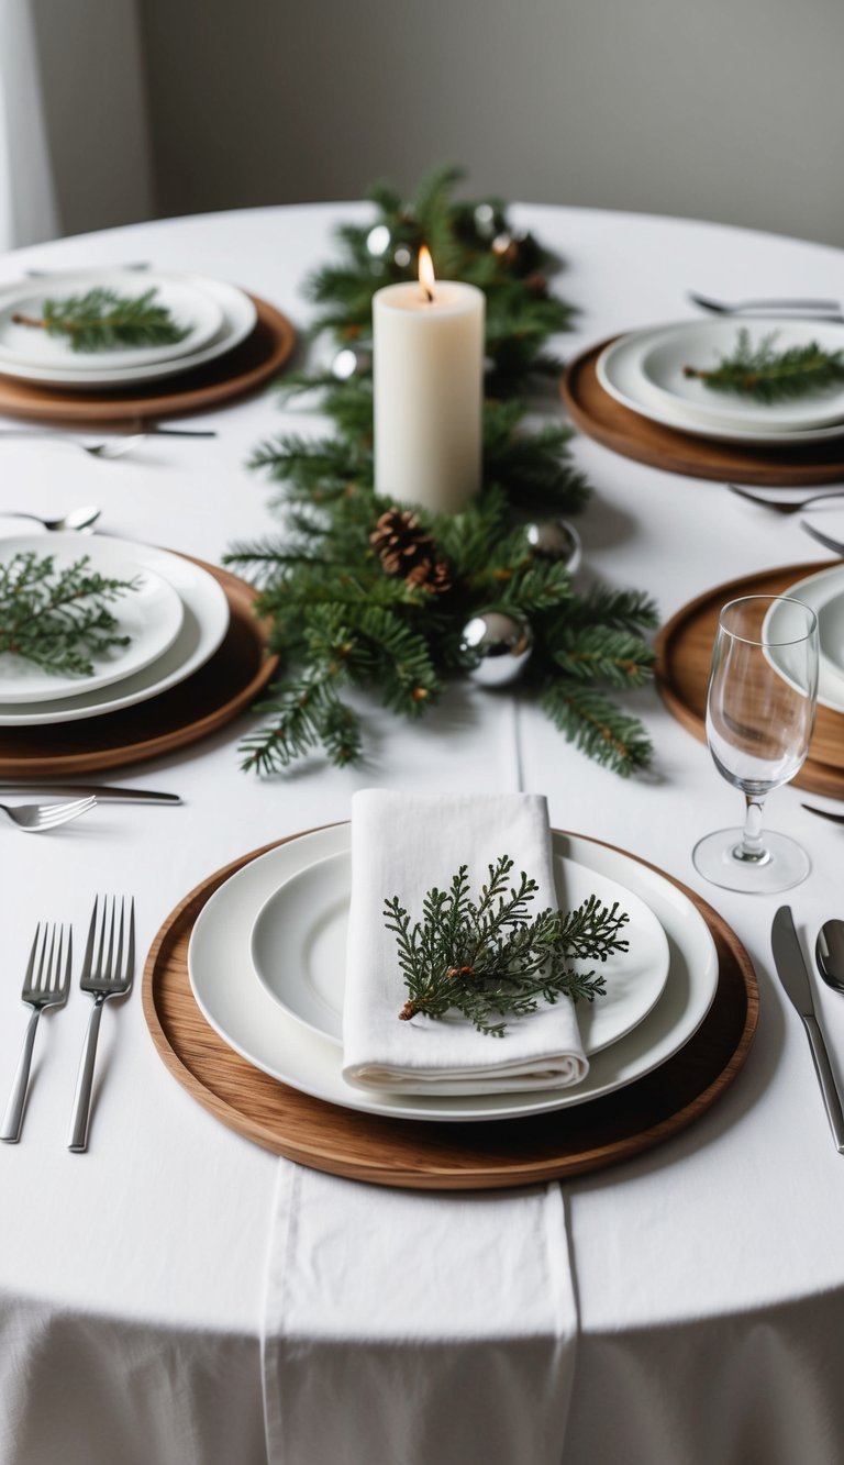
[[[604,905],[617,901],[630,917],[623,932],[630,951],[614,952],[598,968],[607,995],[577,1005],[583,1052],[591,1056],[630,1033],[659,1001],[668,979],[668,942],[645,901],[608,876],[557,856],[555,879],[566,910],[596,895]],[[350,894],[349,851],[316,860],[284,880],[261,907],[251,942],[252,964],[270,996],[340,1047]],[[595,968],[595,963],[573,965]]]

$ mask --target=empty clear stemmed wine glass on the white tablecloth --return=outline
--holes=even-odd
[[[787,891],[809,875],[806,851],[762,832],[765,797],[803,766],[818,709],[818,617],[802,601],[747,595],[718,617],[706,697],[715,768],[746,798],[743,829],[693,850],[695,869],[728,891]]]

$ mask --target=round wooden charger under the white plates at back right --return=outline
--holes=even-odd
[[[610,335],[576,356],[569,362],[560,384],[563,403],[574,425],[605,448],[667,473],[714,478],[719,482],[785,488],[831,483],[844,478],[844,434],[841,438],[807,442],[804,447],[766,450],[756,442],[696,438],[623,407],[604,391],[596,372],[601,352],[615,340],[617,335]]]

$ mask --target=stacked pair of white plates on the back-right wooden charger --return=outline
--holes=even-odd
[[[642,418],[699,438],[800,447],[844,435],[844,384],[781,403],[714,391],[684,368],[714,371],[736,352],[738,331],[756,347],[765,337],[774,349],[816,341],[825,352],[844,350],[844,324],[781,318],[680,321],[632,331],[598,357],[598,381],[615,401]]]

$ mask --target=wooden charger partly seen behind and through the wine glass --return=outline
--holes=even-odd
[[[718,615],[727,601],[741,595],[787,595],[797,580],[819,570],[838,564],[829,560],[819,564],[782,565],[778,570],[763,570],[741,580],[728,580],[706,590],[696,601],[683,605],[662,627],[656,637],[656,686],[659,696],[673,716],[693,732],[700,743],[706,741],[706,691],[712,662],[712,643],[718,630]],[[844,797],[844,715],[831,708],[818,708],[815,734],[809,757],[796,778],[799,788],[829,798]]]

